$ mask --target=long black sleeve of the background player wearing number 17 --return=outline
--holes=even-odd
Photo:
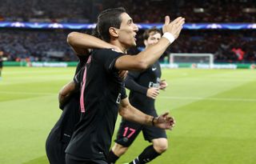
[[[148,88],[146,88],[145,86],[141,86],[136,82],[136,78],[138,78],[139,75],[140,75],[140,72],[138,72],[138,71],[130,71],[127,74],[127,77],[125,80],[126,88],[129,90],[138,92],[140,94],[146,95]]]

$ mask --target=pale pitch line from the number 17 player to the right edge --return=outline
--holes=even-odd
[[[196,98],[196,97],[174,97],[174,96],[159,96],[165,99],[186,99],[186,100],[212,100],[212,101],[229,101],[229,102],[256,102],[254,98]]]

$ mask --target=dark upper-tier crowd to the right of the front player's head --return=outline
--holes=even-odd
[[[182,16],[186,22],[255,22],[255,0],[126,0],[124,6],[134,22],[162,22],[165,15]]]

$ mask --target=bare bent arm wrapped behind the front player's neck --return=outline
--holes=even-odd
[[[89,49],[114,49],[121,52],[121,50],[110,43],[104,42],[99,38],[91,36],[90,34],[83,34],[78,32],[71,32],[66,38],[66,42],[73,48],[78,55],[89,54]]]

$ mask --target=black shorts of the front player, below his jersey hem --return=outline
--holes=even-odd
[[[66,164],[107,164],[107,162],[102,159],[82,159],[66,154]]]

